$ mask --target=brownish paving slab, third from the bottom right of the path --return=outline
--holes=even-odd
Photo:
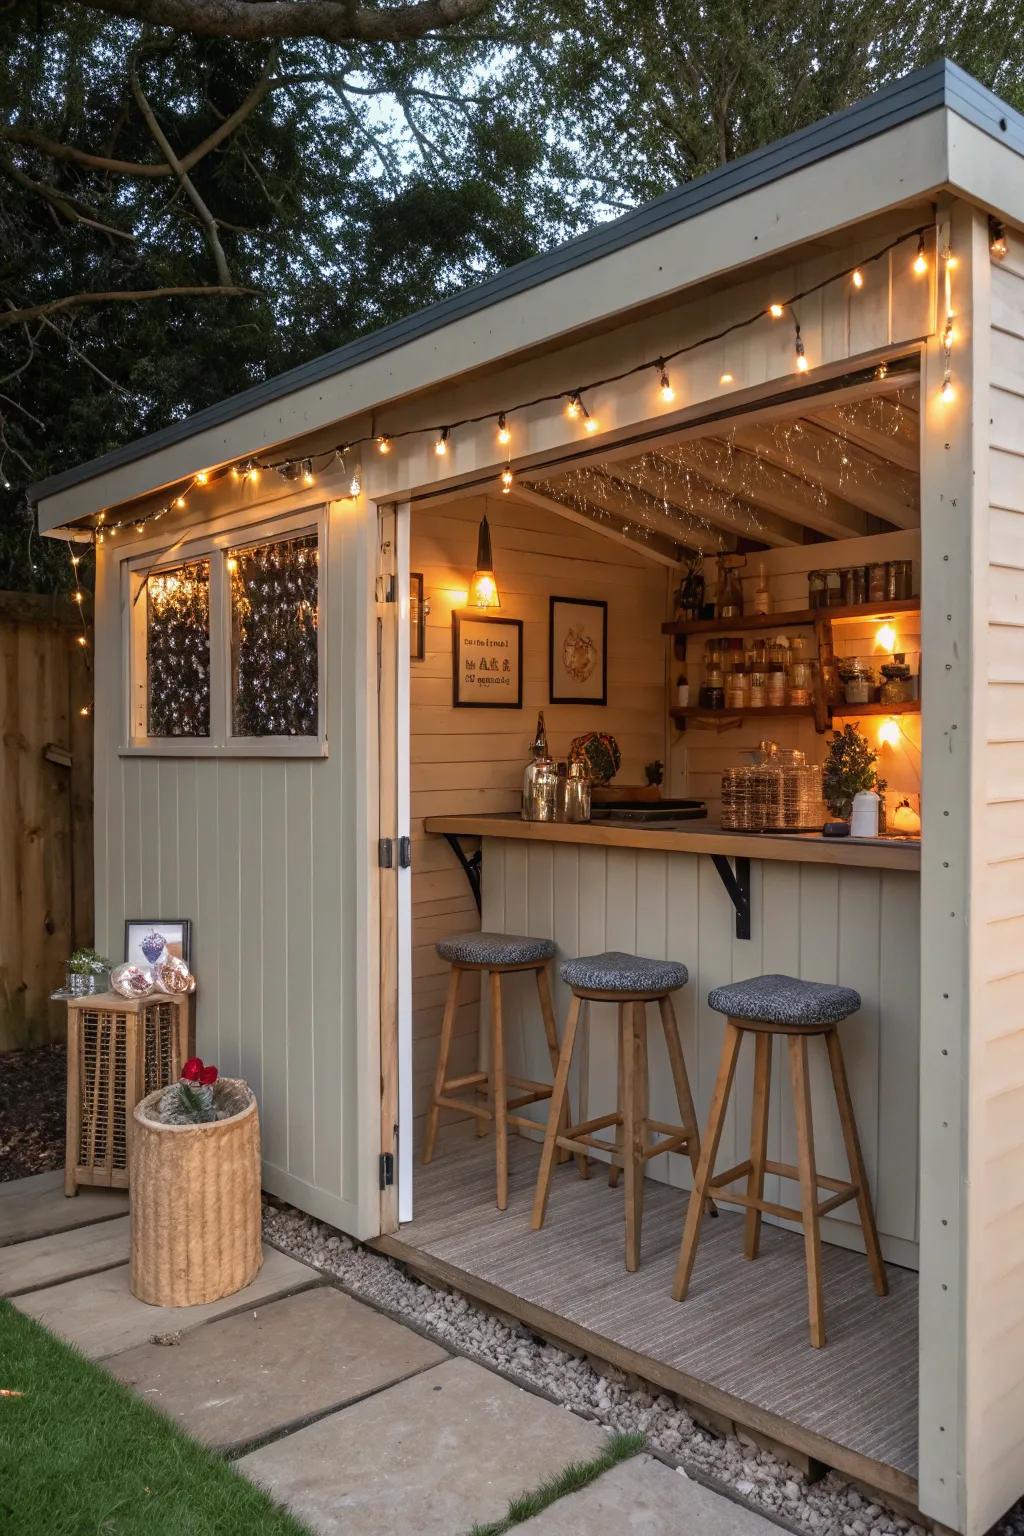
[[[439,1344],[321,1286],[207,1322],[170,1349],[141,1344],[107,1369],[197,1439],[232,1450],[447,1358]]]

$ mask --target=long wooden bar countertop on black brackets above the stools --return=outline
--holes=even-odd
[[[921,868],[921,846],[900,839],[854,842],[803,833],[723,833],[703,822],[671,826],[622,822],[524,822],[514,813],[499,816],[428,816],[428,833],[464,837],[513,837],[534,843],[586,843],[602,848],[649,848],[652,852],[726,854],[729,859],[772,859],[780,863],[844,865],[854,869]]]

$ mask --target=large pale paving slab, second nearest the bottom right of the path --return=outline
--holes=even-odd
[[[235,1465],[316,1536],[459,1536],[605,1444],[596,1424],[450,1359]]]

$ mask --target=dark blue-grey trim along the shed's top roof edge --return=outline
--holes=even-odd
[[[821,123],[812,123],[811,127],[789,134],[786,138],[766,144],[763,149],[755,149],[749,155],[743,155],[742,160],[734,160],[718,170],[711,170],[695,181],[688,181],[672,192],[666,192],[633,214],[626,214],[608,224],[599,224],[597,229],[570,240],[554,250],[531,257],[528,261],[520,261],[517,266],[508,267],[507,272],[499,272],[497,276],[488,278],[476,287],[464,289],[461,293],[451,295],[451,298],[431,304],[430,309],[418,310],[415,315],[408,315],[393,326],[384,326],[381,330],[359,336],[356,341],[350,341],[333,352],[325,352],[319,358],[310,358],[309,362],[301,362],[287,373],[279,373],[272,379],[264,379],[261,384],[253,384],[252,389],[243,390],[239,395],[230,395],[227,399],[218,401],[215,406],[207,406],[206,410],[200,410],[184,421],[175,421],[146,438],[126,442],[123,447],[101,455],[101,458],[91,459],[69,470],[61,470],[49,479],[40,481],[38,485],[32,485],[29,496],[34,501],[52,496],[81,481],[94,479],[107,470],[130,464],[135,459],[157,453],[160,449],[192,438],[207,427],[221,425],[256,406],[281,399],[284,395],[290,395],[309,384],[316,384],[319,379],[344,373],[361,362],[368,362],[372,358],[393,352],[405,343],[441,330],[456,319],[488,309],[491,304],[497,304],[565,272],[577,270],[591,261],[597,261],[600,257],[620,250],[623,246],[636,244],[663,229],[682,224],[699,214],[718,207],[722,203],[742,197],[745,192],[768,186],[781,177],[791,175],[794,170],[826,160],[829,155],[835,155],[854,144],[861,144],[878,134],[884,134],[887,129],[898,127],[910,118],[923,117],[926,112],[933,112],[940,108],[949,108],[983,132],[1009,143],[1010,147],[1024,154],[1024,117],[956,65],[940,58],[926,69],[904,75],[903,80],[886,86],[866,101],[846,108],[843,112],[835,112]]]

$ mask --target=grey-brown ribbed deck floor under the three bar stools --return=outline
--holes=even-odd
[[[556,1170],[548,1218],[530,1230],[539,1147],[510,1141],[510,1204],[494,1206],[490,1140],[416,1169],[415,1220],[381,1240],[436,1279],[539,1332],[634,1370],[718,1415],[869,1481],[917,1493],[918,1276],[889,1266],[875,1296],[861,1253],[826,1244],[827,1344],[808,1342],[803,1238],[765,1226],[743,1260],[743,1218],[706,1221],[691,1292],[671,1299],[686,1197],[648,1181],[643,1263],[623,1266],[622,1189],[603,1169]]]

